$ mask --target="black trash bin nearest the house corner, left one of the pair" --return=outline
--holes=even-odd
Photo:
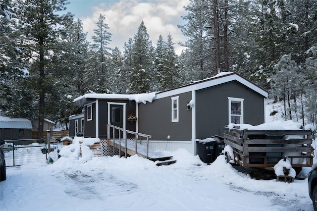
[[[215,141],[211,139],[196,141],[198,156],[203,162],[212,162],[214,143]]]

